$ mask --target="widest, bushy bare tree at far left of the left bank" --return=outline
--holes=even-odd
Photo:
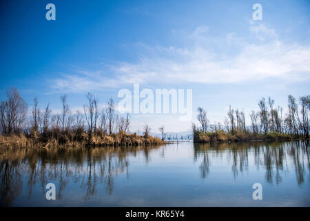
[[[27,113],[27,104],[19,95],[17,88],[7,90],[6,95],[7,100],[1,102],[0,105],[1,132],[4,135],[21,133]]]

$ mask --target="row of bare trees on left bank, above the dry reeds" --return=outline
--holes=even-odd
[[[83,112],[70,111],[67,98],[67,95],[60,97],[61,113],[52,115],[50,104],[41,111],[38,99],[34,97],[32,116],[28,119],[28,105],[17,88],[7,90],[7,99],[0,105],[1,133],[3,135],[46,133],[51,129],[64,132],[85,128],[90,136],[98,132],[107,134],[116,131],[129,132],[130,115],[127,114],[125,117],[117,115],[112,98],[107,101],[104,108],[100,108],[99,99],[92,93],[87,93],[87,104],[83,105]]]

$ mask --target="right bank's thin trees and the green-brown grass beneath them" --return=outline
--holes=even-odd
[[[197,119],[200,126],[192,124],[196,143],[240,142],[249,140],[309,139],[310,95],[300,97],[300,106],[295,97],[288,96],[289,113],[283,115],[282,107],[274,107],[271,97],[267,102],[260,99],[260,111],[251,111],[251,126],[245,124],[244,111],[229,106],[225,125],[209,124],[207,111],[199,107]]]

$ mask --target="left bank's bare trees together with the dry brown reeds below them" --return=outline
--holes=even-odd
[[[99,99],[92,93],[87,93],[85,96],[87,102],[83,105],[83,111],[71,111],[68,96],[62,95],[60,97],[61,111],[53,114],[50,104],[43,110],[39,108],[37,97],[34,97],[32,110],[28,112],[28,104],[17,88],[7,90],[6,95],[6,100],[0,105],[0,133],[5,137],[25,135],[25,137],[41,142],[54,139],[59,143],[64,143],[68,140],[90,142],[94,140],[94,137],[106,135],[114,136],[116,139],[116,133],[122,135],[130,133],[131,117],[129,114],[118,115],[112,97],[104,106],[99,106]],[[151,128],[145,125],[143,130],[144,137],[148,138]],[[124,137],[118,138],[125,139]],[[125,142],[132,142],[134,138],[140,139],[141,137],[134,134],[134,137],[130,137],[130,141],[127,139]],[[142,142],[147,142],[147,140]],[[152,142],[158,142],[158,140],[152,140]]]

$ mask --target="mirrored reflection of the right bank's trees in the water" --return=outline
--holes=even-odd
[[[253,153],[254,159],[249,159]],[[226,158],[225,158],[226,157]],[[310,169],[309,141],[295,142],[253,142],[234,144],[194,144],[194,161],[201,161],[201,177],[207,177],[211,159],[223,159],[231,163],[231,171],[236,178],[249,170],[249,161],[254,162],[256,169],[265,167],[267,182],[280,184],[282,174],[289,172],[288,160],[292,160],[298,184],[304,182],[306,170]]]

